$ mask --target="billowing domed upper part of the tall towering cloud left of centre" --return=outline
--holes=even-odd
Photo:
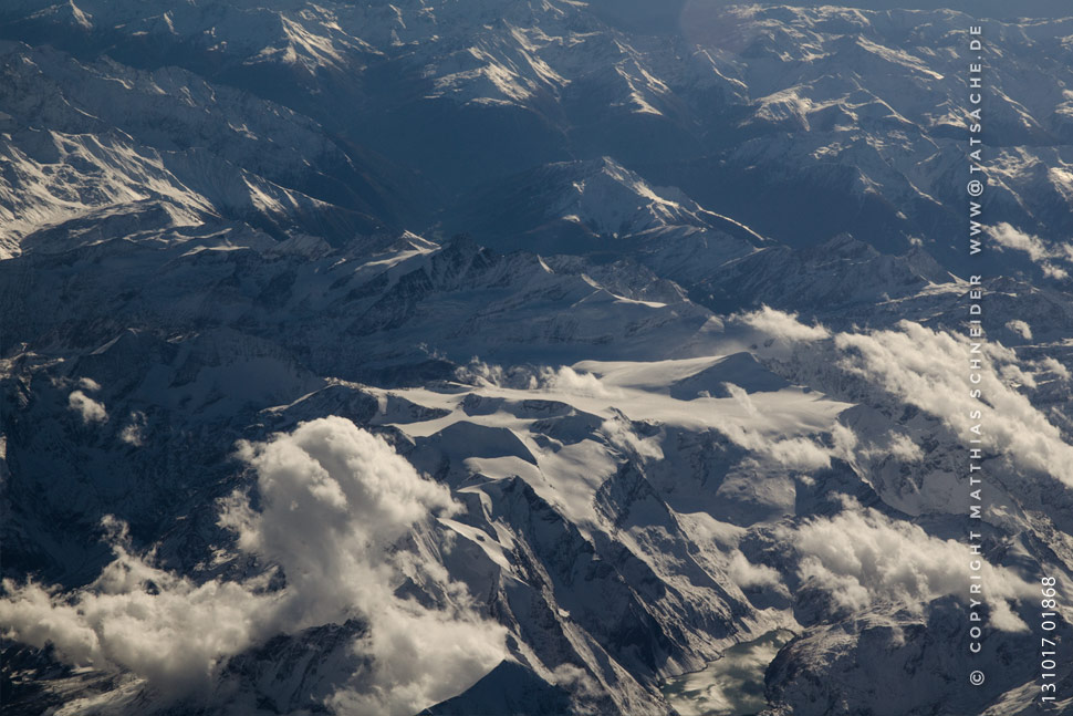
[[[387,548],[429,510],[452,507],[446,487],[341,417],[241,443],[239,456],[257,470],[260,510],[236,492],[220,523],[237,532],[242,551],[280,564],[288,583],[311,598],[294,605],[306,612],[292,615],[300,626],[343,616]]]

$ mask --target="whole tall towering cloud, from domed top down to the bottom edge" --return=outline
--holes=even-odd
[[[288,622],[337,622],[354,611],[372,622],[356,646],[373,657],[372,683],[341,685],[332,704],[353,714],[416,713],[506,657],[504,630],[473,614],[465,598],[439,610],[393,594],[404,563],[389,548],[430,512],[457,509],[446,487],[340,417],[243,444],[240,455],[257,469],[261,510],[237,494],[221,523],[239,535],[243,551],[283,568],[295,593]],[[465,595],[459,584],[446,587]]]

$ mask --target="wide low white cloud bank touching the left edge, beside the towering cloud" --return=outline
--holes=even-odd
[[[104,520],[115,559],[72,594],[4,581],[0,623],[13,639],[76,665],[135,672],[165,693],[208,685],[221,657],[253,643],[277,598],[257,583],[191,580],[132,553],[126,528]]]

